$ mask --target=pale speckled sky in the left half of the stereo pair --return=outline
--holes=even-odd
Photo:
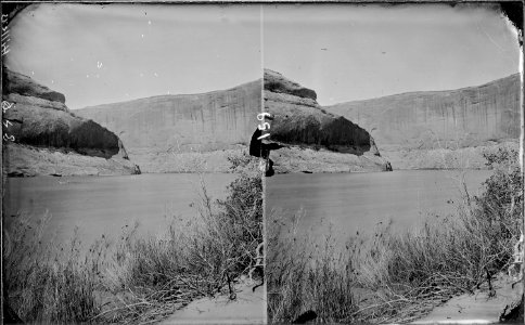
[[[258,5],[40,4],[10,27],[7,66],[72,109],[261,78]]]

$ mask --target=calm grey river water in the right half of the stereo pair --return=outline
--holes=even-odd
[[[462,200],[482,190],[488,170],[398,170],[373,173],[293,173],[266,181],[266,211],[316,238],[332,227],[337,236],[371,233],[380,222],[406,230],[425,218],[453,213]],[[302,211],[302,212],[299,212]],[[438,216],[438,217],[436,217]]]

